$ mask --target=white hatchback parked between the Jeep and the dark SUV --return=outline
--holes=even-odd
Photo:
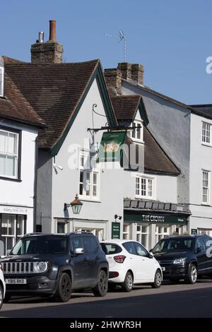
[[[109,263],[109,283],[121,285],[130,292],[133,285],[149,284],[159,288],[163,273],[153,254],[133,240],[105,240],[101,242]]]

